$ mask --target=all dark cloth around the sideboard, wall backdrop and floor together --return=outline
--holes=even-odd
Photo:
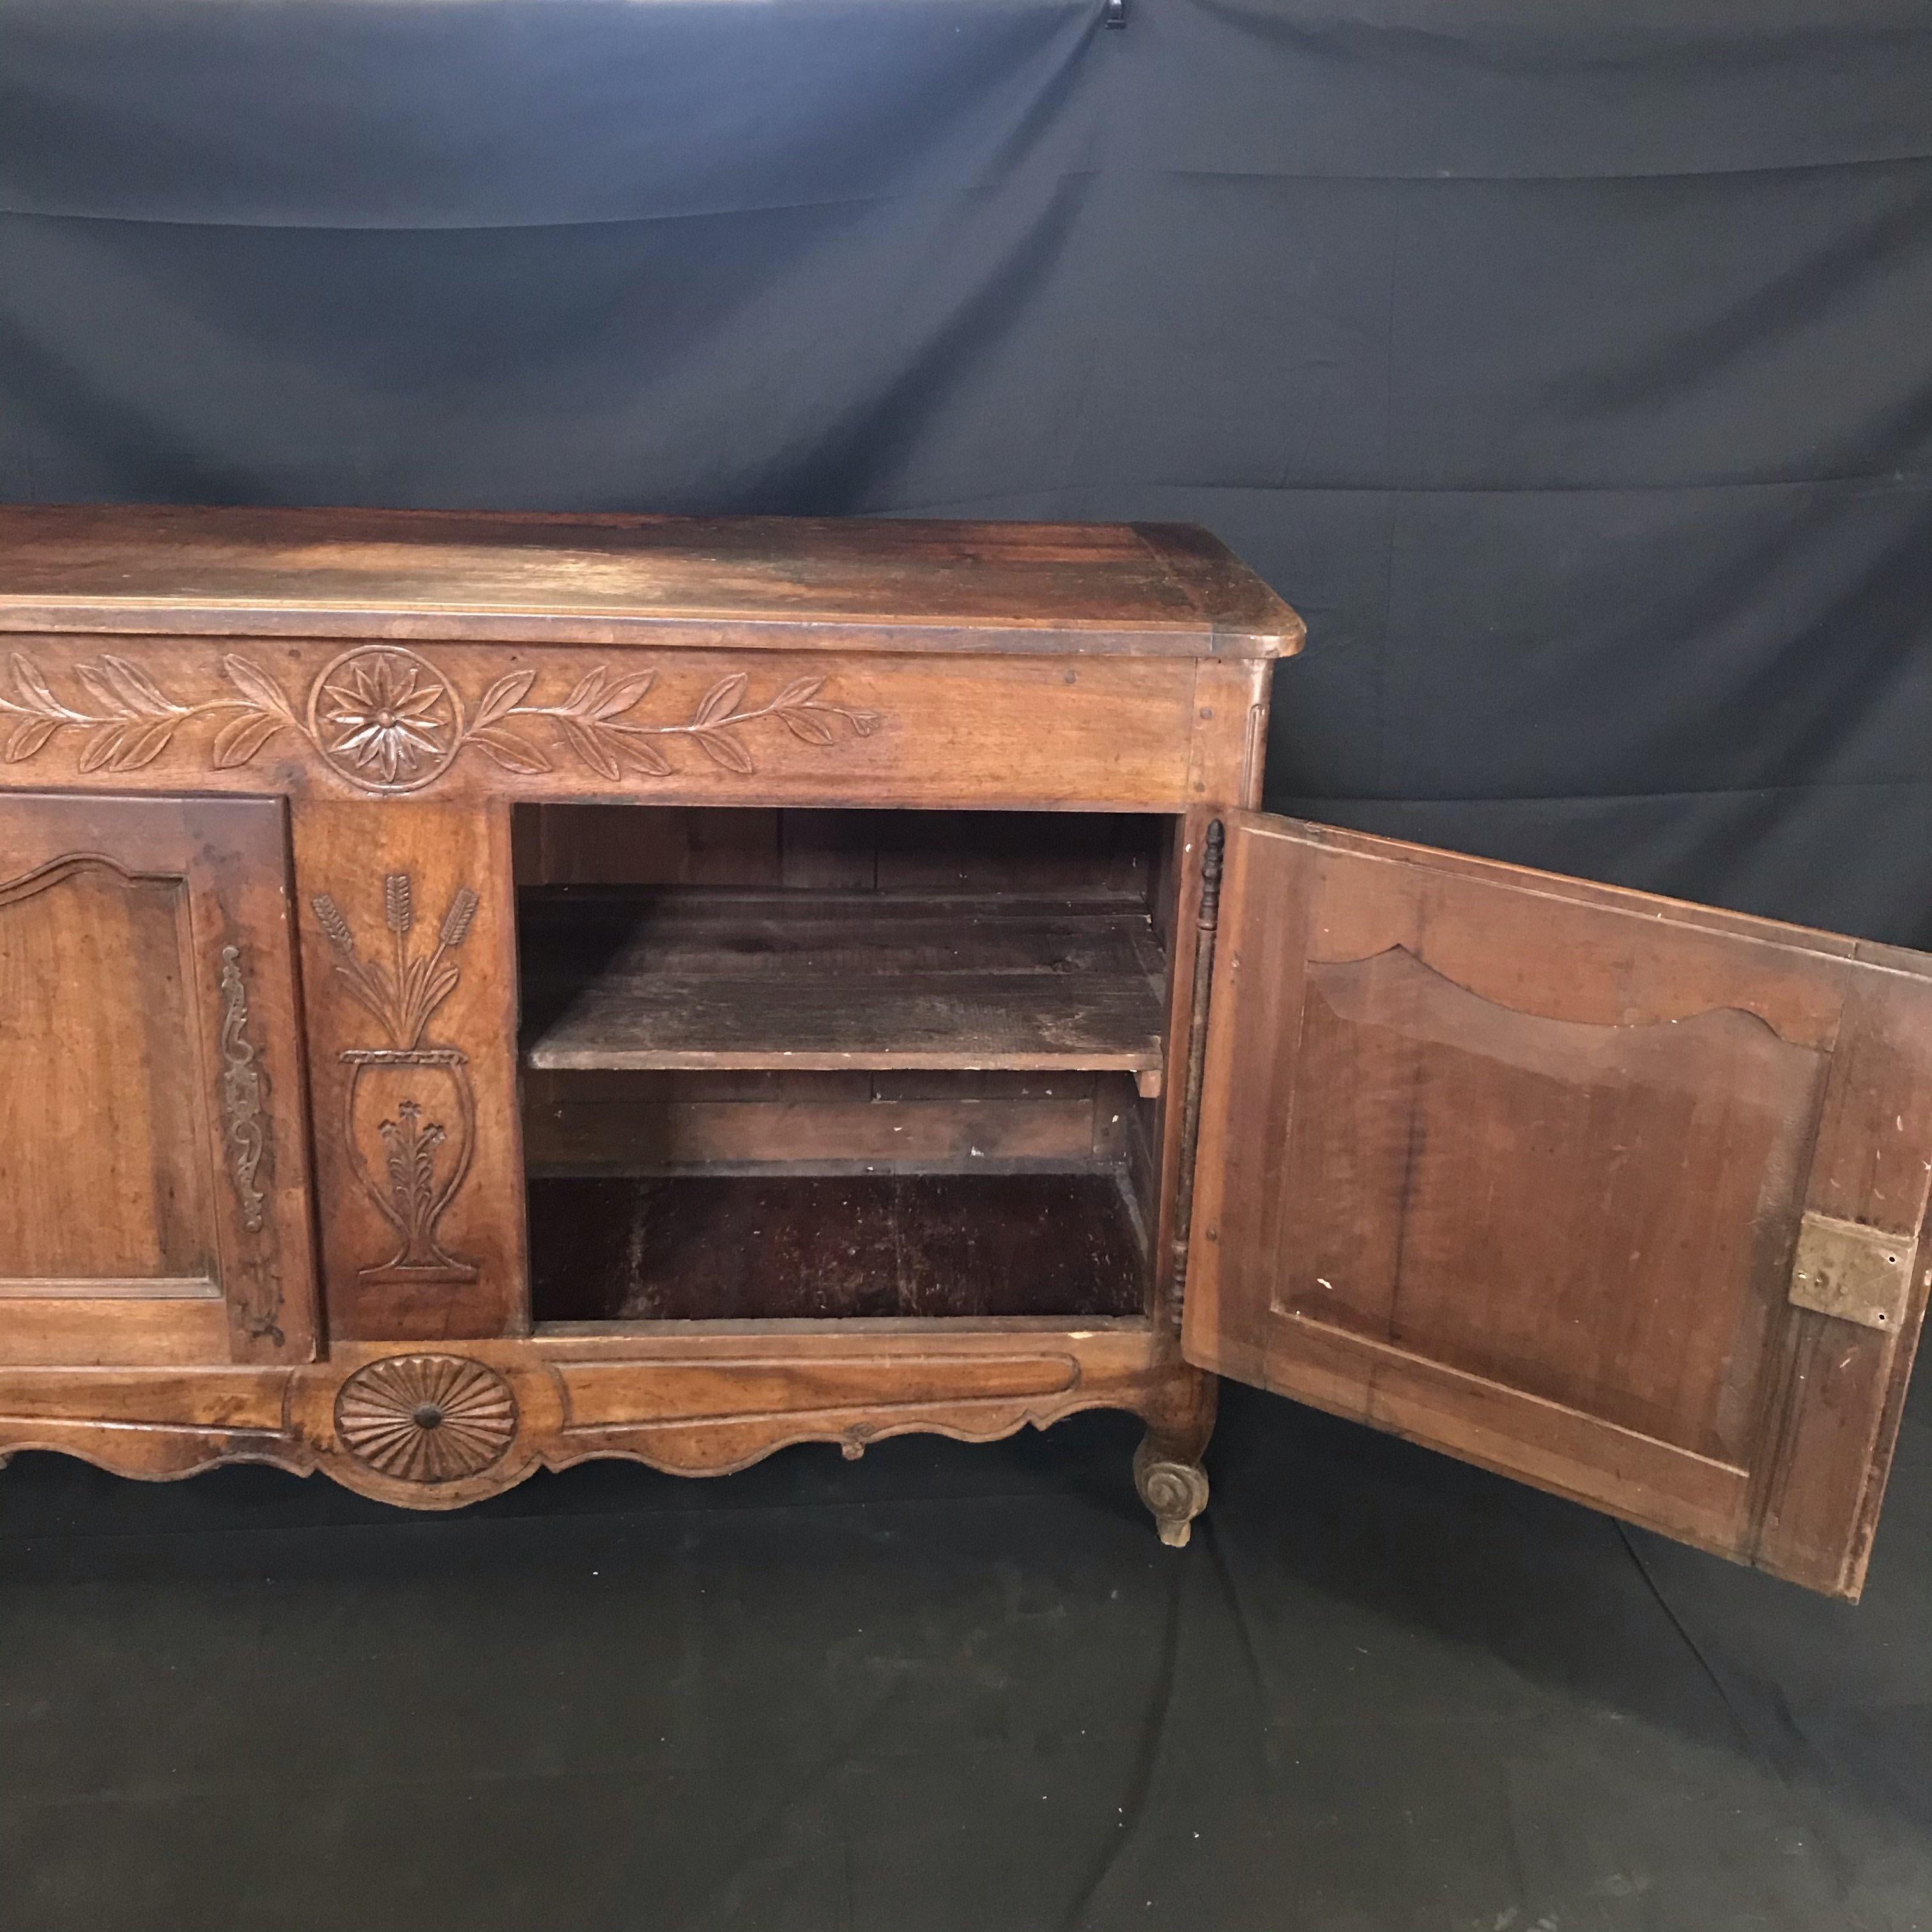
[[[1200,518],[1277,804],[1932,943],[1932,8],[1128,6],[0,0],[0,497]],[[1917,1932],[1928,1395],[1859,1609],[1238,1387],[23,1455],[0,1926]]]

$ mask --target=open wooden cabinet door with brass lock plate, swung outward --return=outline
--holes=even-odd
[[[1188,1360],[1857,1596],[1932,1260],[1928,974],[1231,815]]]

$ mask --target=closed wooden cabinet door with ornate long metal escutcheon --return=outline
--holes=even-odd
[[[0,798],[0,1362],[315,1352],[278,800]]]

